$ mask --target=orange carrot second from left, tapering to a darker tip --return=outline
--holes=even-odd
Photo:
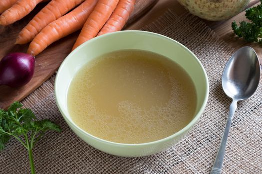
[[[58,19],[84,0],[52,0],[20,31],[15,44],[31,41],[46,25]]]

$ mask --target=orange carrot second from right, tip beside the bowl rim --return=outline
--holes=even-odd
[[[94,10],[86,20],[72,50],[95,37],[105,22],[109,19],[119,0],[99,0]]]

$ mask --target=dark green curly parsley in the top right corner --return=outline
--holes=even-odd
[[[247,42],[262,44],[262,4],[246,9],[245,15],[251,22],[241,21],[240,26],[236,21],[232,22],[234,33]]]

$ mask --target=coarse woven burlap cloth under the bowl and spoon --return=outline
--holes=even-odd
[[[143,30],[171,37],[187,46],[204,65],[210,96],[198,124],[180,143],[165,152],[142,158],[105,154],[79,139],[66,125],[55,104],[54,77],[22,101],[38,118],[60,124],[62,133],[49,133],[33,150],[38,174],[208,174],[223,135],[231,100],[221,87],[225,63],[233,53],[204,22],[169,10]],[[252,98],[239,103],[228,140],[224,174],[262,174],[262,85]],[[0,152],[1,174],[29,173],[26,150],[15,140]]]

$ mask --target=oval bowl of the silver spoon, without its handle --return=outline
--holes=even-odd
[[[251,47],[240,48],[228,61],[223,75],[222,87],[231,98],[244,100],[256,91],[260,82],[260,63]]]

